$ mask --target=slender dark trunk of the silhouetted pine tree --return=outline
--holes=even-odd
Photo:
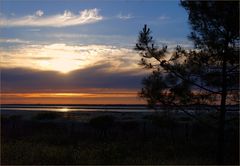
[[[217,151],[217,162],[218,164],[224,164],[224,137],[225,137],[225,113],[226,113],[226,98],[227,98],[227,62],[225,55],[223,57],[222,66],[222,94],[221,94],[221,107],[220,116],[218,123],[218,151]]]

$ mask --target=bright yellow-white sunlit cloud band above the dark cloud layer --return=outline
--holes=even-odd
[[[108,71],[140,68],[140,57],[135,51],[111,45],[29,44],[15,49],[0,49],[0,56],[1,67],[24,67],[62,73],[99,63],[110,64]]]

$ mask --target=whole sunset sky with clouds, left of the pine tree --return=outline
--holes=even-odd
[[[187,19],[179,1],[1,0],[1,103],[145,103],[138,33],[192,47]]]

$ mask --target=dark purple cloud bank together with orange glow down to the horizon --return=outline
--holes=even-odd
[[[144,75],[106,72],[107,64],[67,75],[26,68],[1,70],[1,102],[66,104],[139,104],[137,91]]]

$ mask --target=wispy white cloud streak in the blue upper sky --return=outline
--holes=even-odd
[[[34,15],[19,18],[2,18],[1,26],[47,26],[47,27],[65,27],[95,23],[103,19],[99,15],[99,9],[85,9],[79,14],[74,14],[65,10],[63,14],[52,16],[43,16],[44,12],[38,10]]]

